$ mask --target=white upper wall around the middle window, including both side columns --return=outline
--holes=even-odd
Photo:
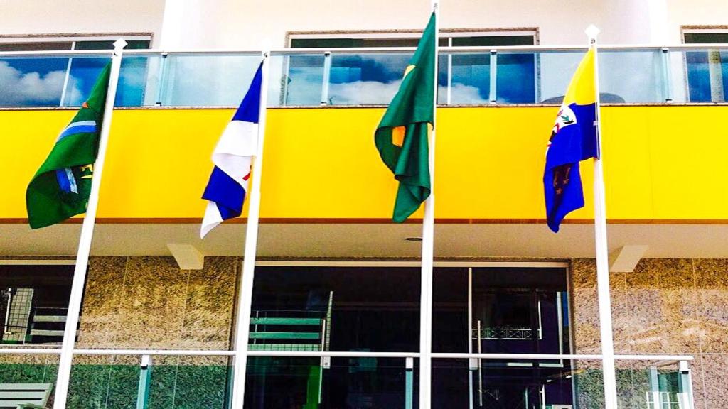
[[[164,42],[191,47],[255,49],[266,42],[284,47],[287,31],[422,30],[430,15],[430,0],[269,0],[252,6],[237,0],[168,0],[168,4],[184,17],[167,31],[173,41]],[[541,44],[555,45],[585,43],[584,29],[594,23],[602,29],[603,43],[645,42],[646,8],[642,0],[443,0],[440,27],[537,27]]]

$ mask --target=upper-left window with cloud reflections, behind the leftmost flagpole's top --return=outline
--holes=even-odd
[[[119,35],[122,36],[122,35]],[[0,52],[113,49],[119,36],[0,38]],[[151,36],[124,36],[126,49],[148,49]],[[0,107],[79,106],[108,57],[0,57]],[[146,58],[127,57],[119,76],[118,106],[139,106]]]

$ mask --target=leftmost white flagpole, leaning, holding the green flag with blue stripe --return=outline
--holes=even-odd
[[[74,281],[71,285],[71,298],[68,300],[68,314],[66,315],[66,329],[63,331],[63,346],[60,349],[58,362],[58,377],[55,384],[54,409],[65,409],[68,397],[68,381],[71,378],[71,364],[74,360],[74,344],[76,343],[76,329],[79,326],[81,301],[84,296],[84,283],[86,282],[86,269],[91,253],[93,229],[96,223],[96,210],[98,208],[98,192],[101,186],[103,162],[106,159],[106,146],[108,146],[108,133],[111,130],[111,115],[114,112],[114,99],[116,98],[116,85],[119,84],[119,71],[122,67],[122,53],[127,41],[118,39],[114,42],[114,55],[111,57],[111,72],[108,78],[106,91],[106,106],[103,110],[103,123],[98,142],[98,156],[93,167],[91,191],[89,202],[84,215],[79,238],[79,251],[76,253],[76,268]]]

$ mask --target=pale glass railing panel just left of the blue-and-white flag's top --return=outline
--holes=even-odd
[[[157,102],[237,107],[260,63],[258,55],[169,55],[159,67],[164,76]]]

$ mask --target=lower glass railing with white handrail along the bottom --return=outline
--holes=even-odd
[[[5,352],[12,352],[6,350]],[[0,400],[50,407],[58,350],[0,353]],[[416,353],[248,352],[245,408],[419,407]],[[68,408],[230,408],[222,351],[79,350]],[[694,409],[692,357],[617,355],[617,408]],[[37,397],[36,394],[38,395]],[[433,408],[604,408],[598,355],[433,354]]]

